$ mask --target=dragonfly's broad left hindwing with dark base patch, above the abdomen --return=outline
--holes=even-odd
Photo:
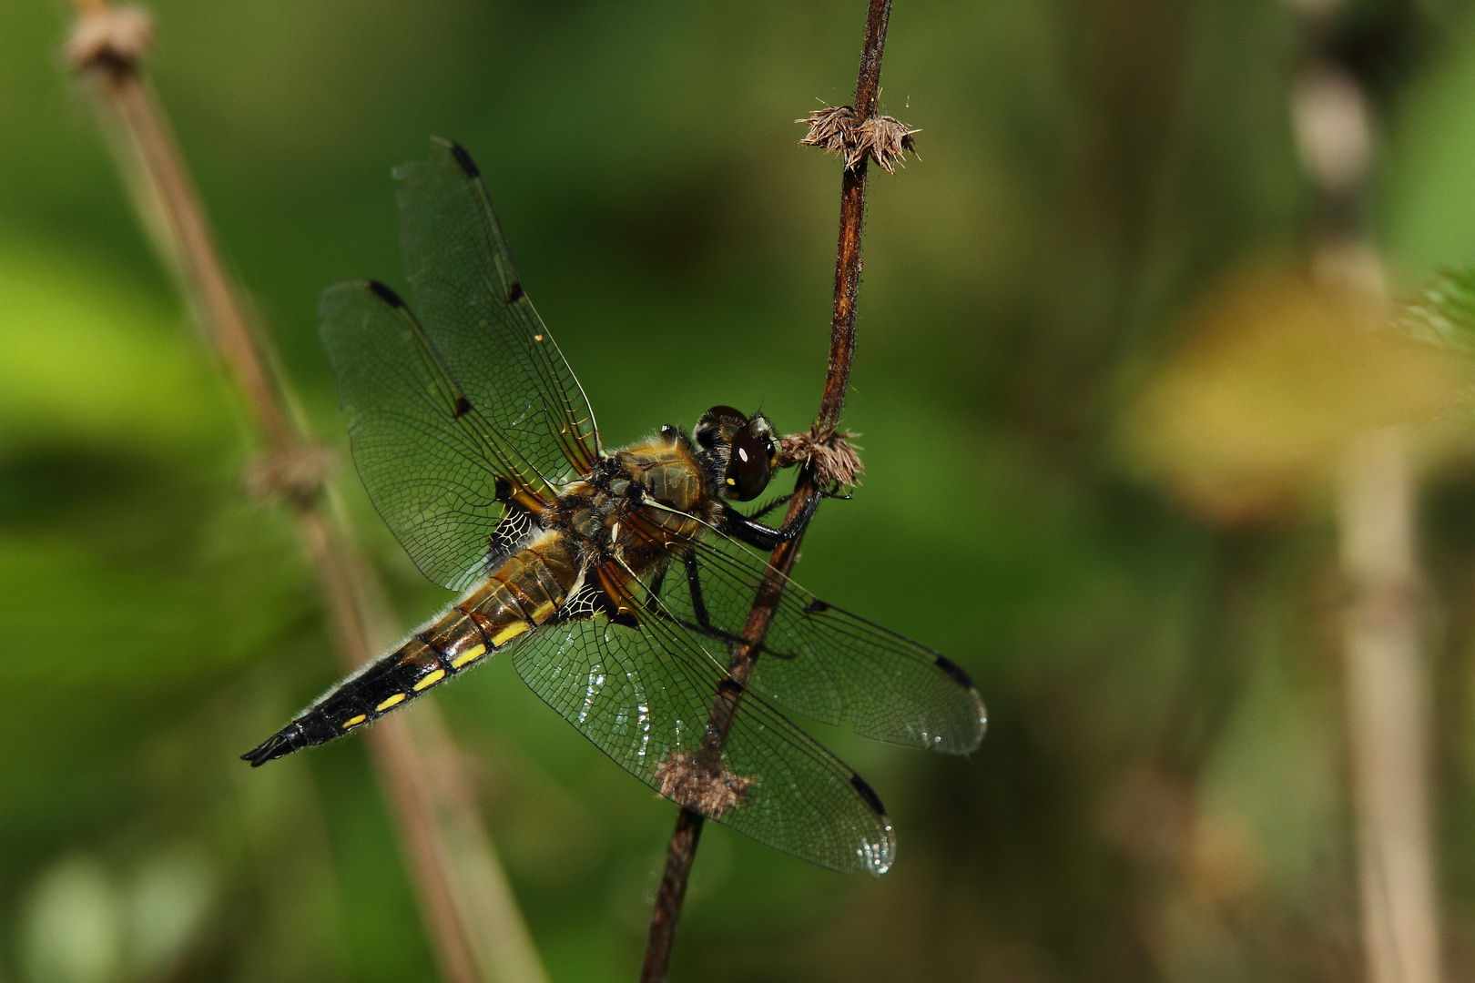
[[[509,535],[534,532],[518,501],[550,500],[552,489],[471,405],[389,287],[341,283],[319,311],[369,498],[425,576],[471,587],[515,545]]]

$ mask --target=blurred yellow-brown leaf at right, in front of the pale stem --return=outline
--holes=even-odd
[[[1124,420],[1133,463],[1220,522],[1260,522],[1323,486],[1345,442],[1419,424],[1463,385],[1456,357],[1389,329],[1370,293],[1286,268],[1229,276]]]

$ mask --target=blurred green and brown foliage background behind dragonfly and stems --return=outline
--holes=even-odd
[[[1404,292],[1475,262],[1469,6],[1357,0],[1339,41],[1384,113],[1369,205]],[[60,68],[68,10],[0,10],[0,980],[428,979],[363,747],[236,760],[333,676],[311,579],[242,491],[243,414]],[[863,4],[153,10],[152,78],[319,433],[342,436],[317,295],[403,283],[389,168],[431,133],[479,161],[608,442],[714,402],[807,423],[838,172],[789,121],[850,97]],[[1366,410],[1366,358],[1392,355],[1342,352],[1307,395],[1236,333],[1310,326],[1295,364],[1325,365],[1289,273],[1295,56],[1282,0],[897,4],[882,102],[922,161],[873,180],[847,407],[869,473],[796,576],[966,666],[991,731],[966,762],[827,735],[894,814],[881,881],[709,827],[677,979],[1356,971],[1338,413],[1302,432],[1297,407]],[[1468,976],[1469,368],[1410,358],[1384,389],[1435,417],[1438,870]],[[1270,407],[1261,430],[1208,447],[1215,398]],[[344,485],[400,616],[445,603]],[[510,666],[435,699],[552,976],[633,977],[671,806]]]

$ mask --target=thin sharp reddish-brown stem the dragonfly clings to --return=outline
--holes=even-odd
[[[886,47],[886,24],[891,19],[891,0],[870,0],[866,15],[866,41],[860,52],[860,78],[856,83],[856,115],[860,119],[876,116],[881,94],[881,59]],[[850,386],[850,365],[856,357],[856,298],[860,293],[860,236],[866,218],[866,164],[861,158],[854,167],[847,167],[841,177],[839,192],[839,243],[835,256],[835,307],[830,315],[829,367],[825,373],[825,391],[816,414],[813,432],[833,432],[845,407],[845,392]],[[820,492],[814,470],[805,466],[794,483],[785,526],[799,522],[805,506]],[[768,559],[770,573],[758,588],[748,619],[743,623],[742,641],[733,647],[727,672],[739,684],[746,684],[758,659],[758,646],[768,632],[768,623],[783,594],[783,584],[794,569],[799,554],[804,529],[791,541],[782,544]],[[723,702],[720,702],[723,703]],[[732,727],[732,710],[726,715],[714,709],[708,732],[718,732],[724,741]],[[720,750],[720,747],[718,747]],[[676,831],[667,850],[665,874],[650,912],[650,933],[646,940],[642,983],[664,983],[671,964],[671,943],[676,939],[676,924],[681,915],[681,900],[686,898],[686,883],[701,840],[702,816],[690,809],[681,809]]]

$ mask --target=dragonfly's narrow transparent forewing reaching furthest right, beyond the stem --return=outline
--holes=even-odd
[[[708,648],[738,640],[768,564],[711,535],[652,584]],[[984,700],[959,666],[827,604],[789,581],[748,688],[826,724],[892,744],[966,755],[984,738]]]

